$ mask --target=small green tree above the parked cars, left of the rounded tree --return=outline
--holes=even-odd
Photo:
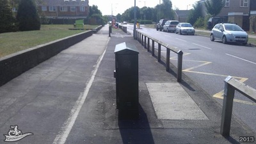
[[[189,12],[188,22],[194,25],[196,20],[202,16],[202,5],[200,3],[193,4],[192,10]]]

